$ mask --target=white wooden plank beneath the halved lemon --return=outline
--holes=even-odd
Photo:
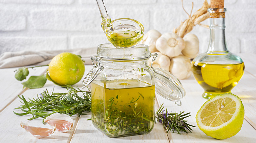
[[[248,74],[249,75],[249,74]],[[245,77],[247,74],[245,74]],[[244,79],[245,80],[245,79]],[[241,80],[242,81],[242,80]],[[196,114],[200,107],[206,102],[206,99],[202,98],[203,88],[193,79],[193,76],[186,80],[181,80],[183,87],[186,90],[186,96],[182,99],[182,105],[176,106],[171,101],[167,101],[166,99],[158,96],[160,103],[164,103],[165,108],[168,108],[168,111],[185,111],[191,112],[191,116],[188,117],[188,123],[191,125],[196,124]],[[243,83],[243,82],[242,82]],[[240,84],[240,83],[239,83]],[[241,84],[241,87],[244,87],[244,84]],[[252,86],[252,85],[251,85]],[[236,87],[235,87],[236,88]],[[255,87],[254,87],[255,89]],[[254,101],[254,100],[253,100]],[[245,105],[245,104],[244,104]],[[246,105],[245,105],[245,108]],[[253,111],[251,111],[253,112]],[[245,114],[248,112],[245,112]],[[255,114],[255,113],[254,113]],[[182,133],[178,135],[175,133],[168,133],[170,142],[216,142],[220,140],[213,139],[207,135],[205,135],[198,127],[192,128],[192,133],[186,134]],[[246,121],[244,120],[243,127],[240,132],[228,139],[221,140],[221,142],[255,142],[256,139],[256,130]]]

